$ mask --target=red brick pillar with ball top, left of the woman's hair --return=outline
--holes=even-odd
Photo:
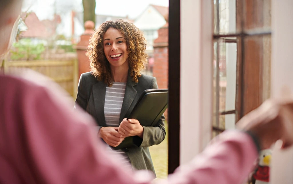
[[[93,21],[86,21],[84,23],[85,31],[80,36],[80,41],[76,45],[76,52],[77,52],[77,58],[78,58],[78,72],[79,77],[82,73],[89,72],[90,71],[90,61],[88,57],[86,56],[86,49],[89,44],[89,39],[91,38],[91,35],[93,34],[93,29],[95,28],[95,24]]]

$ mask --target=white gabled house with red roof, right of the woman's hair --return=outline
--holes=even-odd
[[[147,40],[147,53],[153,57],[153,43],[158,38],[158,29],[167,23],[169,8],[150,4],[135,20]]]

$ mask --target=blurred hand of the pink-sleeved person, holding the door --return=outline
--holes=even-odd
[[[293,100],[267,100],[244,116],[236,126],[251,132],[260,142],[260,149],[268,149],[277,140],[283,148],[293,144]]]

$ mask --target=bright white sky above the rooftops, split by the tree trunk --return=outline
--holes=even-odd
[[[96,14],[136,18],[149,4],[168,6],[168,0],[96,0]],[[28,7],[40,20],[51,19],[54,12],[83,11],[82,0],[24,0],[23,11]]]

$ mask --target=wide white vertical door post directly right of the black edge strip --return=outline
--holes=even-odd
[[[181,0],[180,164],[211,139],[213,1]]]

